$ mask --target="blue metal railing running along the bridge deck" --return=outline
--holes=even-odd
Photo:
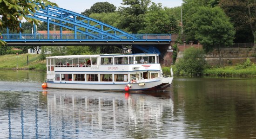
[[[25,40],[143,40],[143,41],[171,41],[171,34],[2,34],[5,41]],[[111,37],[112,36],[112,37]]]

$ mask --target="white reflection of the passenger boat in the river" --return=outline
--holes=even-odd
[[[126,138],[132,138],[131,130],[151,133],[165,128],[163,119],[173,118],[174,113],[172,93],[168,98],[159,98],[143,94],[49,90],[47,106],[52,126],[62,123],[61,130],[75,131],[76,125],[88,131],[118,133]]]

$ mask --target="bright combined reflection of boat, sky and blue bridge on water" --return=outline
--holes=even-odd
[[[34,95],[37,100],[17,98],[20,106],[12,104],[4,110],[8,120],[2,120],[2,126],[9,129],[4,137],[152,138],[164,133],[163,118],[171,118],[174,111],[170,92],[163,93],[164,97],[66,90]]]

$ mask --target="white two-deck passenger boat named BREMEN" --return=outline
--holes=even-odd
[[[46,57],[47,81],[44,86],[105,91],[163,91],[172,83],[173,74],[162,75],[158,58],[157,53]]]

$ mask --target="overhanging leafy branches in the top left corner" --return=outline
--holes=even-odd
[[[37,5],[37,3],[39,3],[39,5]],[[0,0],[0,30],[8,27],[10,31],[22,32],[20,22],[23,18],[30,23],[34,22],[38,25],[39,21],[28,18],[27,14],[32,14],[33,16],[36,9],[39,9],[39,7],[44,8],[47,5],[57,6],[55,3],[49,2],[48,0]],[[3,44],[5,43],[0,40],[0,45]]]

